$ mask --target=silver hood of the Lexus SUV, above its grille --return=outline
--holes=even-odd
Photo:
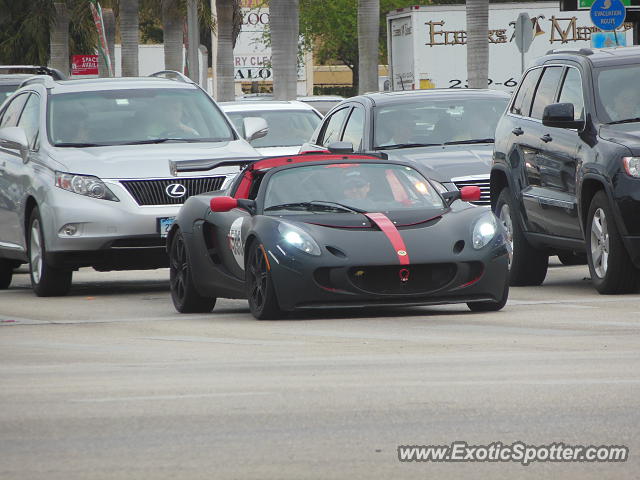
[[[51,157],[69,173],[99,178],[171,177],[169,161],[261,156],[244,140],[215,143],[163,143],[158,145],[114,145],[88,148],[54,148]],[[236,172],[236,167],[215,173]],[[210,175],[212,172],[190,173]],[[180,176],[186,176],[180,174]]]

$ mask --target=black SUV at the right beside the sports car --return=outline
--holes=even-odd
[[[537,59],[498,122],[491,206],[510,233],[511,285],[549,255],[589,263],[600,293],[640,278],[640,47]]]

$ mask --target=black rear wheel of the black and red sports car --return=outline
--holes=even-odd
[[[196,290],[189,249],[180,230],[169,248],[169,285],[171,300],[180,313],[207,313],[216,304],[215,297],[203,297]]]

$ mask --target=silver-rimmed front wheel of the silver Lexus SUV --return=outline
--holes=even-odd
[[[73,271],[49,264],[44,238],[42,218],[36,207],[31,212],[27,230],[31,287],[39,297],[61,297],[71,289]]]

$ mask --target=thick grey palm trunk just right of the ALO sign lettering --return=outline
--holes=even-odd
[[[271,0],[271,67],[273,96],[276,100],[295,100],[298,82],[298,0]]]

